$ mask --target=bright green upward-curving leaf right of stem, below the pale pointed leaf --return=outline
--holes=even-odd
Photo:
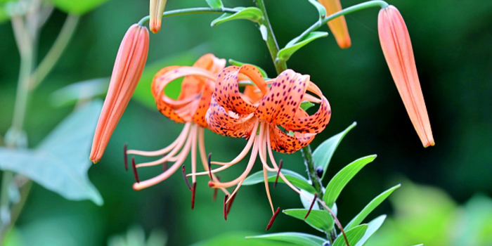
[[[366,164],[373,162],[375,158],[376,155],[368,155],[366,157],[354,160],[354,162],[348,164],[347,167],[344,167],[337,174],[335,174],[333,179],[330,180],[330,183],[328,183],[328,186],[326,186],[323,202],[325,202],[328,207],[332,207],[347,183],[349,183],[349,181],[354,178],[358,171],[361,171]]]

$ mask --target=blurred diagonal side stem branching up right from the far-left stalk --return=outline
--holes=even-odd
[[[72,36],[77,28],[77,24],[79,23],[79,19],[79,15],[67,16],[67,19],[65,20],[65,23],[63,24],[63,27],[60,31],[60,34],[58,34],[55,43],[53,43],[53,46],[51,46],[46,56],[43,58],[41,63],[39,63],[36,71],[33,72],[30,79],[30,90],[36,88],[56,65],[56,62],[58,61],[58,59],[60,59],[63,51],[69,44],[70,39],[72,39]]]

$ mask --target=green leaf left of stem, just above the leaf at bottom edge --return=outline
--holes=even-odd
[[[306,216],[308,211],[309,209],[286,209],[282,212],[306,222],[309,226],[312,226],[318,231],[328,233],[332,230],[335,221],[328,211],[311,209],[309,216],[304,219],[304,216]]]

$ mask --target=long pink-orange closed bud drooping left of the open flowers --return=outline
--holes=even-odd
[[[103,156],[106,145],[127,108],[131,95],[140,79],[148,54],[147,27],[132,25],[119,46],[112,69],[108,95],[99,116],[96,133],[92,141],[91,159],[97,163]]]

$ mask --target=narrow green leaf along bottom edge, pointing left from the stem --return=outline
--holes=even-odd
[[[265,235],[254,235],[250,237],[246,237],[247,239],[268,239],[268,240],[276,240],[283,242],[292,242],[296,245],[303,246],[320,246],[326,240],[320,238],[316,235],[309,235],[306,233],[273,233],[273,234],[265,234]]]

